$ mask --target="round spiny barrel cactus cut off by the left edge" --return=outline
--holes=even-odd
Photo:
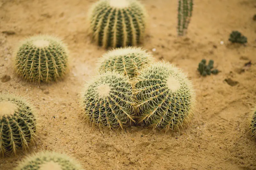
[[[33,144],[36,117],[30,104],[11,94],[0,95],[0,154],[16,154]]]

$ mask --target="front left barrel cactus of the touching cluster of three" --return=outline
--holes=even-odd
[[[109,129],[134,122],[132,85],[127,77],[106,72],[85,85],[82,92],[83,115],[93,124]]]

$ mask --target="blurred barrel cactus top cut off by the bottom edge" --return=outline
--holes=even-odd
[[[66,154],[43,151],[24,159],[15,170],[82,170],[82,167]]]

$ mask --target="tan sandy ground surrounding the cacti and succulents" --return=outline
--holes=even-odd
[[[180,132],[132,127],[126,131],[92,129],[79,115],[78,93],[95,74],[95,62],[106,50],[91,44],[85,32],[92,0],[0,0],[0,92],[16,92],[35,102],[41,116],[38,141],[31,152],[67,153],[84,169],[256,169],[256,142],[247,118],[256,104],[255,0],[195,0],[188,37],[177,38],[177,1],[143,0],[150,24],[144,48],[156,59],[182,68],[195,85],[194,118]],[[238,30],[248,44],[232,45],[229,33]],[[15,34],[2,33],[13,31]],[[59,36],[68,44],[71,72],[50,85],[17,78],[12,55],[16,44],[30,35]],[[220,45],[224,41],[224,45]],[[201,77],[197,65],[213,59],[218,75]],[[244,68],[250,62],[251,67]],[[230,78],[236,85],[225,81]],[[12,169],[29,152],[0,158],[0,169]]]

